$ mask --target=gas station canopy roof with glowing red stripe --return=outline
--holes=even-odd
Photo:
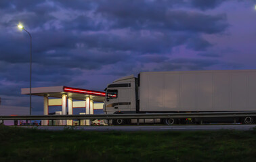
[[[30,88],[22,88],[22,94],[30,94]],[[105,92],[97,90],[87,90],[81,88],[72,88],[68,86],[49,86],[49,87],[39,87],[31,88],[31,94],[42,96],[42,97],[55,97],[62,98],[62,94],[66,94],[74,100],[83,100],[89,97],[95,102],[104,102]]]

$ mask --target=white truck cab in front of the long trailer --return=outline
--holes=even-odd
[[[135,113],[136,111],[136,93],[135,80],[131,76],[125,76],[114,80],[105,88],[106,97],[104,103],[104,113]]]

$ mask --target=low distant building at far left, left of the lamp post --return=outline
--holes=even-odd
[[[0,105],[0,116],[3,115],[29,115],[29,107],[16,107]],[[1,123],[2,121],[0,121]],[[4,124],[7,126],[21,125],[26,121],[20,120],[5,120]]]

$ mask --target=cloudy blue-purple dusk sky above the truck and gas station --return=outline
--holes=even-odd
[[[1,0],[1,105],[32,86],[104,90],[140,72],[256,69],[255,0]],[[33,115],[43,97],[33,97]],[[50,111],[51,112],[51,111]]]

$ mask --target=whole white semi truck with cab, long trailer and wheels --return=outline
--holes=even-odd
[[[140,72],[137,77],[114,80],[105,90],[105,114],[256,111],[256,70]],[[251,116],[160,121],[171,125],[202,120],[255,122]],[[112,121],[129,123],[128,119]]]

